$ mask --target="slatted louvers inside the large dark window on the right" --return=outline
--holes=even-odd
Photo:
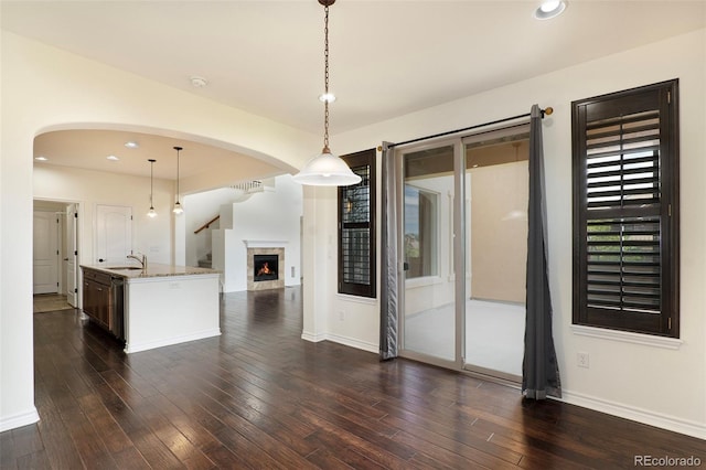
[[[588,308],[661,311],[660,116],[587,122]]]

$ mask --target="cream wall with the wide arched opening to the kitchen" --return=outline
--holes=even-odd
[[[6,430],[38,419],[31,269],[35,136],[79,128],[161,129],[279,161],[285,170],[301,167],[319,136],[7,31],[0,47],[0,430]],[[175,233],[181,223],[170,236],[183,247]],[[174,259],[185,259],[183,250],[175,250]]]

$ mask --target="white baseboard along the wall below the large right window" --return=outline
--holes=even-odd
[[[607,413],[609,415],[642,423],[644,425],[667,429],[699,439],[706,439],[706,424],[663,415],[661,413],[650,412],[648,409],[597,398],[581,393],[569,392],[566,389],[561,391],[560,400],[571,405],[581,406],[584,408],[593,409],[596,412]]]

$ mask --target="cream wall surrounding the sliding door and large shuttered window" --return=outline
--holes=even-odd
[[[554,107],[554,115],[544,119],[544,148],[549,282],[564,399],[702,438],[706,438],[705,49],[706,31],[700,30],[332,139],[344,154],[383,140],[403,141],[528,113],[535,103]],[[681,94],[681,346],[671,350],[577,334],[571,328],[570,104],[672,78],[680,78]],[[335,199],[327,195],[313,202],[317,224],[335,226]],[[320,244],[320,252],[329,250],[329,236],[330,231],[317,231],[312,243]],[[318,271],[318,278],[335,278],[335,257],[319,268],[325,273]],[[343,338],[349,344],[375,350],[378,302],[350,301],[338,296],[334,286],[327,297],[333,308],[314,312],[318,323],[325,325],[317,338]],[[338,319],[339,311],[347,312],[345,321]],[[577,352],[590,354],[590,368],[577,366]]]

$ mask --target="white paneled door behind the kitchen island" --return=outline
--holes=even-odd
[[[97,264],[124,265],[132,253],[132,207],[97,205],[95,238]]]

